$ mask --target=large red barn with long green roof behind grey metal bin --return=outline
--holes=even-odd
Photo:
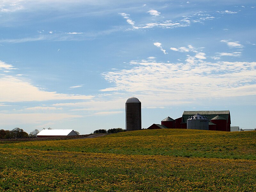
[[[200,114],[209,120],[209,130],[230,131],[230,112],[229,111],[184,111],[182,117],[175,119],[176,129],[187,129],[189,117]]]

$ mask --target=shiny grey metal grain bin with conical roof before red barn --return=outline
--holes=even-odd
[[[209,130],[209,120],[197,113],[187,119],[187,129]]]

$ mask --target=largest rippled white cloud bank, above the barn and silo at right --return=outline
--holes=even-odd
[[[204,61],[205,53],[196,55],[198,58],[188,56],[186,62],[180,63],[131,61],[132,68],[103,75],[115,84],[113,95],[138,95],[144,107],[256,94],[256,62],[208,62]]]

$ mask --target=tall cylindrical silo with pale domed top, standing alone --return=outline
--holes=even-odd
[[[126,131],[141,130],[141,102],[130,97],[125,103]]]

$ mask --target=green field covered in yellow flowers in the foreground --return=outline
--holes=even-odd
[[[0,140],[1,191],[256,191],[256,131]]]

